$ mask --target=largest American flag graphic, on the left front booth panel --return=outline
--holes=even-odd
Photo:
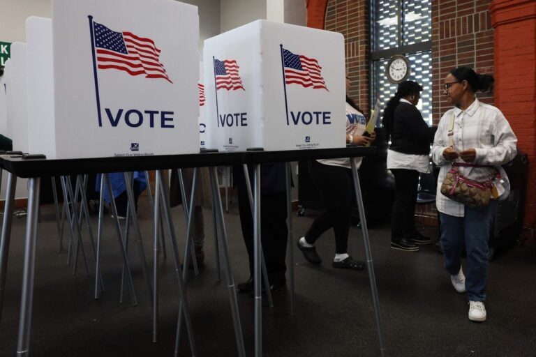
[[[112,31],[96,22],[93,22],[93,26],[99,69],[124,70],[129,75],[163,78],[173,83],[160,63],[161,50],[153,40],[128,31]]]

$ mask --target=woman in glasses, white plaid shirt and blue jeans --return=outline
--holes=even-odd
[[[445,269],[451,275],[454,289],[466,292],[471,321],[486,321],[486,284],[488,282],[489,232],[495,202],[476,209],[444,196],[441,183],[457,162],[467,179],[485,181],[491,178],[498,198],[507,197],[509,182],[500,167],[516,155],[517,138],[502,112],[480,102],[477,91],[493,88],[491,75],[478,75],[468,67],[451,70],[445,77],[445,94],[454,105],[443,114],[432,147],[432,158],[440,166],[436,204],[441,220],[441,245]],[[450,140],[449,140],[450,138]],[[498,170],[500,178],[496,176]],[[466,246],[466,274],[461,268],[461,250]]]

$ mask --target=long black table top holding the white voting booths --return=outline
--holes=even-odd
[[[352,158],[368,156],[375,147],[349,146],[341,149],[309,149],[293,151],[206,151],[182,155],[128,156],[47,160],[24,155],[0,155],[0,166],[22,178],[131,172],[138,170],[210,167],[241,164],[265,164],[308,159]]]

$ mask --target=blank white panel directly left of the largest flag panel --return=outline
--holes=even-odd
[[[52,20],[28,17],[26,44],[29,153],[52,158],[56,154]]]

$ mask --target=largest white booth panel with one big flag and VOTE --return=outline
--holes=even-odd
[[[198,8],[52,0],[56,157],[199,151]]]

